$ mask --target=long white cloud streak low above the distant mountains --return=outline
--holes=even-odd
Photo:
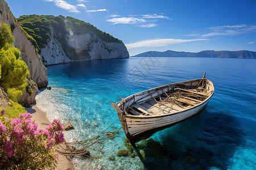
[[[189,41],[200,41],[207,39],[193,39],[193,40],[181,40],[181,39],[151,39],[151,40],[143,40],[138,42],[132,42],[129,44],[125,44],[127,49],[138,48],[138,47],[155,47],[155,46],[166,46],[171,44],[177,44],[182,42]]]

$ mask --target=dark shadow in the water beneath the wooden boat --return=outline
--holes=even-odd
[[[145,169],[228,169],[244,136],[234,117],[205,110],[137,143],[135,150]]]

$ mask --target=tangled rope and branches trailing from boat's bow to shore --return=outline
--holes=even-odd
[[[118,119],[114,121],[113,124],[117,121]],[[111,139],[114,139],[115,137],[123,133],[119,132],[122,128],[106,131],[113,124],[111,124],[96,137],[85,139],[84,141],[78,141],[77,139],[75,139],[75,142],[63,142],[56,147],[56,151],[64,156],[80,156],[81,158],[85,159],[98,158],[97,156],[90,155],[90,152],[100,152],[104,148],[104,143],[108,142]]]

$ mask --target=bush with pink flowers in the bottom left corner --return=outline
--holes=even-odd
[[[46,129],[37,129],[30,113],[9,119],[0,115],[0,169],[45,169],[56,165],[54,146],[64,141],[63,127],[53,120]]]

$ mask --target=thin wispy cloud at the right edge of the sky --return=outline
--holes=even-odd
[[[236,36],[245,33],[256,32],[255,25],[224,25],[218,27],[210,27],[196,31],[186,36],[212,37],[212,36]]]

